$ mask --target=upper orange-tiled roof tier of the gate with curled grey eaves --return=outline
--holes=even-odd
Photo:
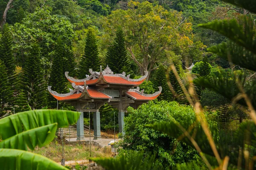
[[[94,85],[97,83],[105,82],[106,84],[113,85],[140,85],[148,76],[148,71],[145,71],[145,75],[139,79],[130,79],[130,74],[125,77],[125,72],[122,74],[113,74],[113,71],[107,66],[104,71],[96,72],[92,69],[89,69],[90,76],[86,75],[85,79],[74,79],[73,77],[68,76],[68,72],[65,72],[65,76],[71,83],[76,85]]]

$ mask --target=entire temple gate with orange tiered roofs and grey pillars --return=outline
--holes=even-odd
[[[100,139],[99,108],[105,103],[118,108],[119,133],[125,134],[124,116],[126,108],[128,106],[137,108],[149,100],[156,99],[162,91],[162,87],[159,87],[159,91],[154,94],[144,94],[144,90],[140,91],[137,86],[146,79],[148,76],[147,71],[139,79],[130,79],[130,75],[125,76],[125,72],[113,74],[113,71],[108,66],[104,71],[100,67],[100,72],[92,69],[89,69],[89,72],[91,75],[86,75],[85,79],[74,79],[68,76],[68,72],[65,72],[66,78],[72,83],[73,87],[73,89],[70,89],[70,93],[58,94],[51,90],[51,86],[48,86],[48,91],[55,99],[70,103],[76,108],[76,111],[81,112],[77,122],[77,140],[84,139],[83,112],[93,112],[94,139]]]

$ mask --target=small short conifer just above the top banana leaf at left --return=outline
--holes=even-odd
[[[15,113],[23,112],[23,111],[29,111],[28,102],[25,96],[25,93],[23,90],[21,90],[16,97],[15,100]]]

